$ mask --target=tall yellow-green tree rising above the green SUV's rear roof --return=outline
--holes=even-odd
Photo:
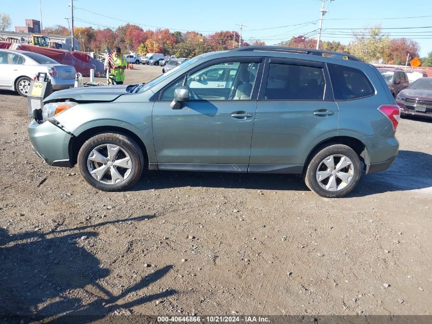
[[[366,31],[353,31],[355,40],[348,46],[348,51],[365,62],[390,60],[389,35],[381,32],[377,25]]]

